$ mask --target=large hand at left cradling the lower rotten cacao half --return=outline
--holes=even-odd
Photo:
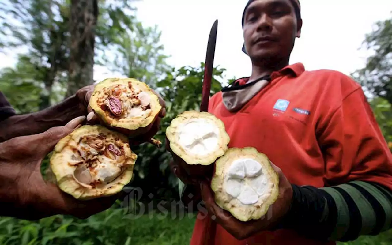
[[[80,116],[63,127],[0,144],[0,202],[6,207],[0,215],[37,220],[69,214],[84,219],[113,205],[117,196],[79,201],[42,178],[42,160],[61,138],[80,127],[84,120],[85,116]]]

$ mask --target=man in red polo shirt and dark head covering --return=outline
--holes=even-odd
[[[335,244],[390,229],[392,156],[361,86],[337,71],[289,65],[298,0],[250,0],[242,24],[252,74],[214,94],[209,112],[224,122],[229,147],[270,158],[279,197],[269,217],[240,222],[216,205],[208,180],[174,162],[188,185],[183,200],[199,196],[209,212],[200,212],[191,245]]]

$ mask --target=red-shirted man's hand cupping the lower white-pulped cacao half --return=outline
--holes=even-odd
[[[250,220],[247,222],[237,220],[228,211],[221,209],[215,203],[214,192],[210,187],[210,181],[200,183],[201,198],[205,202],[205,207],[209,214],[213,215],[214,220],[237,240],[244,240],[262,230],[274,229],[290,209],[292,187],[281,169],[274,164],[272,164],[272,167],[279,174],[279,196],[276,202],[270,206],[269,213],[260,220]]]

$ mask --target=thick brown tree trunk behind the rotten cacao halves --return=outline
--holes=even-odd
[[[94,38],[97,17],[97,0],[71,0],[71,53],[67,97],[94,82]]]

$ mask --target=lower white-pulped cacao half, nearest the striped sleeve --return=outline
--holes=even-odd
[[[230,148],[215,162],[211,189],[215,202],[238,220],[258,220],[278,198],[279,176],[255,148]]]

